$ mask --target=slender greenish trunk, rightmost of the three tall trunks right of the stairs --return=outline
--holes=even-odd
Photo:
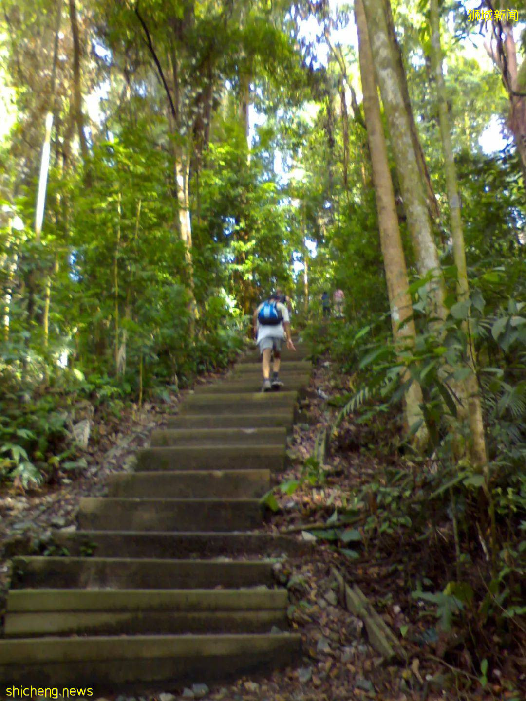
[[[460,198],[457,186],[457,171],[454,165],[453,147],[451,141],[450,121],[447,114],[447,97],[443,75],[442,47],[440,46],[440,15],[438,12],[438,0],[430,0],[430,24],[431,24],[431,64],[436,79],[438,97],[438,120],[440,123],[440,138],[444,154],[445,182],[447,200],[450,205],[450,226],[453,240],[454,263],[457,266],[457,298],[459,301],[469,299],[468,275],[466,271],[466,251],[464,247],[464,232],[460,214]],[[475,354],[470,322],[464,322],[463,330],[466,334],[468,348],[468,363],[471,367],[471,376],[466,379],[466,399],[468,402],[467,413],[471,428],[472,445],[469,447],[471,461],[476,465],[487,463],[485,446],[485,432],[483,412],[480,404],[480,392],[478,380],[475,374]]]

